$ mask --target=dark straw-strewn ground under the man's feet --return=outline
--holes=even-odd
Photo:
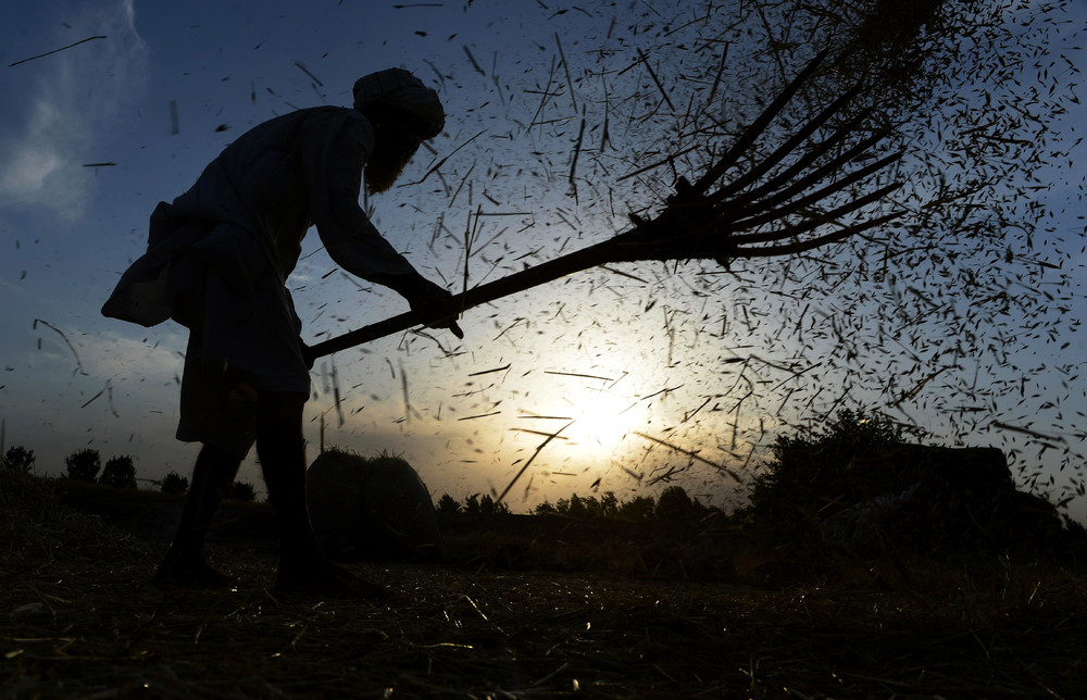
[[[1037,563],[901,563],[875,580],[852,562],[767,587],[767,555],[742,542],[722,545],[728,565],[694,580],[612,564],[610,552],[638,551],[632,537],[520,520],[489,535],[454,528],[452,564],[352,564],[396,593],[390,603],[320,600],[272,591],[267,512],[249,505],[227,511],[212,547],[237,588],[167,593],[146,582],[178,505],[0,473],[0,697],[1072,699],[1087,688],[1087,579]],[[672,541],[634,537],[647,550]],[[559,561],[564,549],[577,554]]]

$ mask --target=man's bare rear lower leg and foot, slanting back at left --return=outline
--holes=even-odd
[[[154,574],[154,584],[207,588],[229,585],[229,576],[215,571],[204,561],[203,549],[211,518],[234,483],[240,465],[238,457],[222,448],[204,445],[200,450],[177,535]]]

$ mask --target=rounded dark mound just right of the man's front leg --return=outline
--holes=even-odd
[[[323,452],[307,473],[307,500],[317,541],[333,559],[442,558],[430,493],[398,457]]]

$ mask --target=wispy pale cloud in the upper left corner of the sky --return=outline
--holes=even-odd
[[[67,220],[83,214],[93,184],[84,164],[146,83],[147,49],[134,21],[133,0],[90,5],[42,41],[105,39],[13,68],[34,74],[25,91],[7,96],[24,110],[22,122],[0,136],[0,208],[40,205]]]

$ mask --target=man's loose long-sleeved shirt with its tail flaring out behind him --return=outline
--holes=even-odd
[[[212,266],[230,261],[242,276],[270,265],[285,284],[312,225],[343,270],[393,289],[410,284],[418,273],[359,205],[373,148],[370,122],[345,108],[304,109],[249,130],[191,189],[159,204],[146,254],[122,276],[102,313],[145,326],[168,318],[178,288],[171,263],[192,250]]]

